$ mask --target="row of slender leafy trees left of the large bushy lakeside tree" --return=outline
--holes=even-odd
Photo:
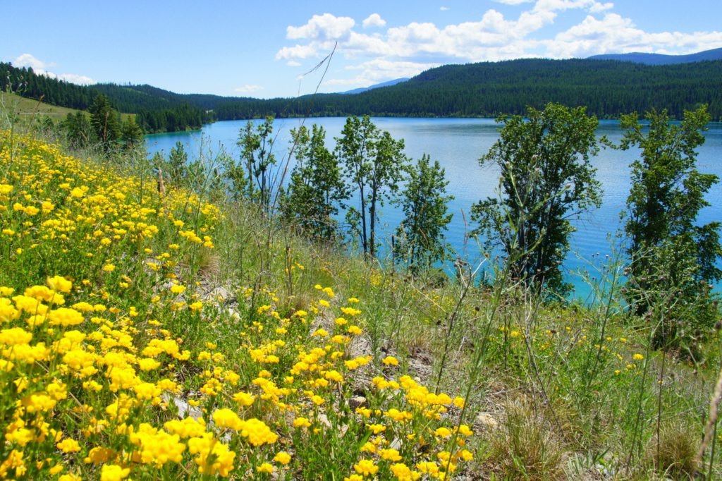
[[[264,215],[278,218],[318,243],[351,243],[368,259],[378,257],[382,239],[379,212],[399,204],[406,218],[394,231],[391,254],[409,272],[432,269],[451,256],[445,230],[451,221],[448,181],[438,161],[425,155],[412,162],[404,141],[378,129],[369,116],[347,118],[334,149],[326,147],[326,131],[314,124],[291,130],[290,157],[275,150],[274,118],[240,130],[240,159],[223,157],[203,181],[198,162],[188,162],[178,142],[157,165],[169,183],[193,188],[221,188],[232,199],[253,202]],[[344,214],[339,218],[339,212]]]

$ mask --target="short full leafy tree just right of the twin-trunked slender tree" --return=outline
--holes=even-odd
[[[394,246],[397,259],[406,263],[412,274],[429,269],[436,261],[446,259],[448,249],[443,232],[451,222],[447,204],[453,196],[446,195],[445,172],[428,155],[423,155],[409,168],[409,178],[401,195],[404,220],[396,230]]]

